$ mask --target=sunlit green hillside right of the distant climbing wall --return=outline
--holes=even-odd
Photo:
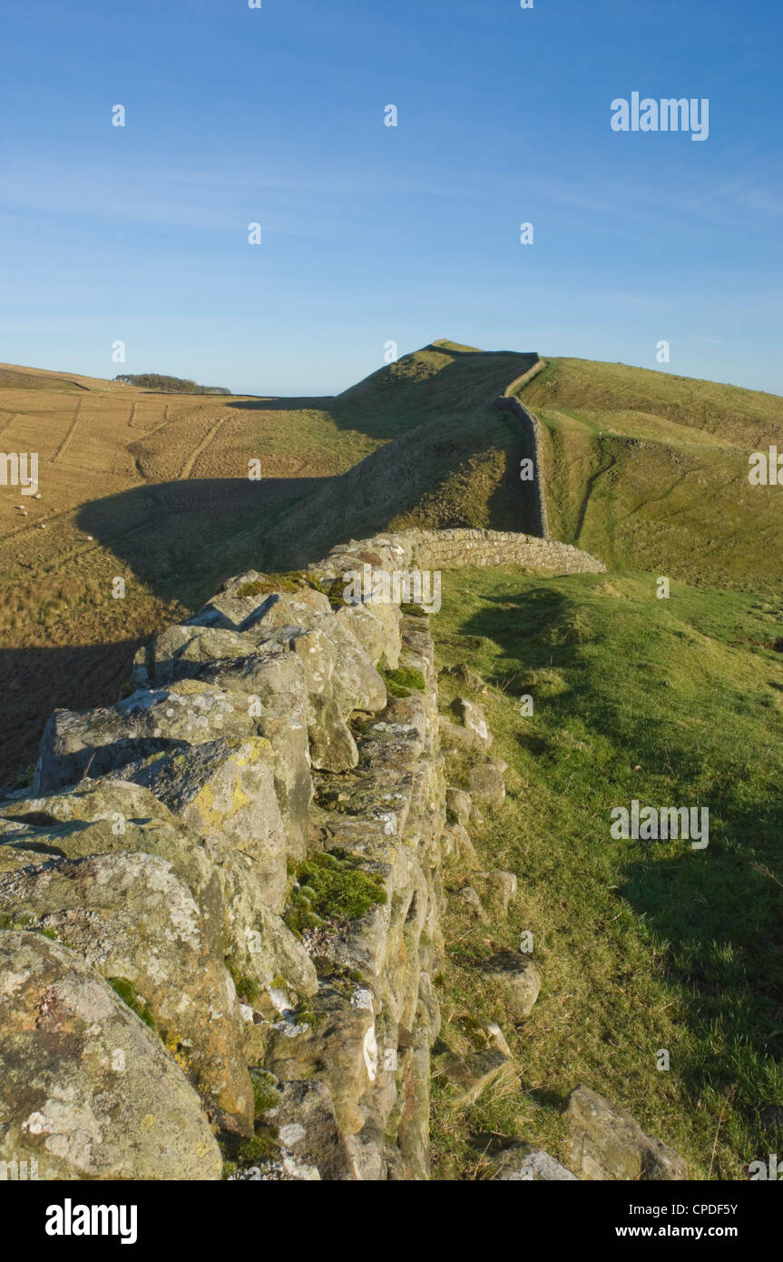
[[[748,456],[783,449],[783,399],[589,360],[548,360],[521,398],[557,539],[696,584],[779,582],[783,491],[750,486]]]

